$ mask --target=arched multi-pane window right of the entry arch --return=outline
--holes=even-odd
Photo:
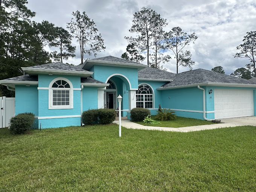
[[[136,107],[153,108],[153,91],[149,85],[142,84],[136,91]]]

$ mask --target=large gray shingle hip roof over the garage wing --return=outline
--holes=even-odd
[[[166,83],[162,87],[176,87],[182,85],[192,85],[207,82],[256,84],[256,82],[251,82],[247,79],[225,75],[222,73],[217,73],[205,69],[196,69],[176,74],[174,81]]]

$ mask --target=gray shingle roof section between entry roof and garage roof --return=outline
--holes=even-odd
[[[175,73],[166,72],[152,67],[145,67],[138,71],[138,78],[143,79],[171,79],[175,78]]]

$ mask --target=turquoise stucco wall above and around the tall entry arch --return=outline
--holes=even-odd
[[[93,78],[98,81],[106,82],[109,76],[113,74],[122,74],[128,78],[131,83],[131,88],[138,88],[138,69],[136,68],[126,68],[126,67],[110,67],[110,66],[97,66],[94,65],[90,69],[93,73]],[[128,81],[122,77],[117,76],[125,82],[126,88],[130,90]]]

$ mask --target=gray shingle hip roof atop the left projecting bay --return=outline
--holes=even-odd
[[[55,70],[68,70],[68,71],[81,71],[81,72],[87,72],[87,70],[81,69],[81,67],[78,66],[70,66],[68,64],[64,64],[62,62],[53,62],[49,64],[44,64],[40,66],[32,66],[29,68],[35,68],[35,69],[55,69]]]

